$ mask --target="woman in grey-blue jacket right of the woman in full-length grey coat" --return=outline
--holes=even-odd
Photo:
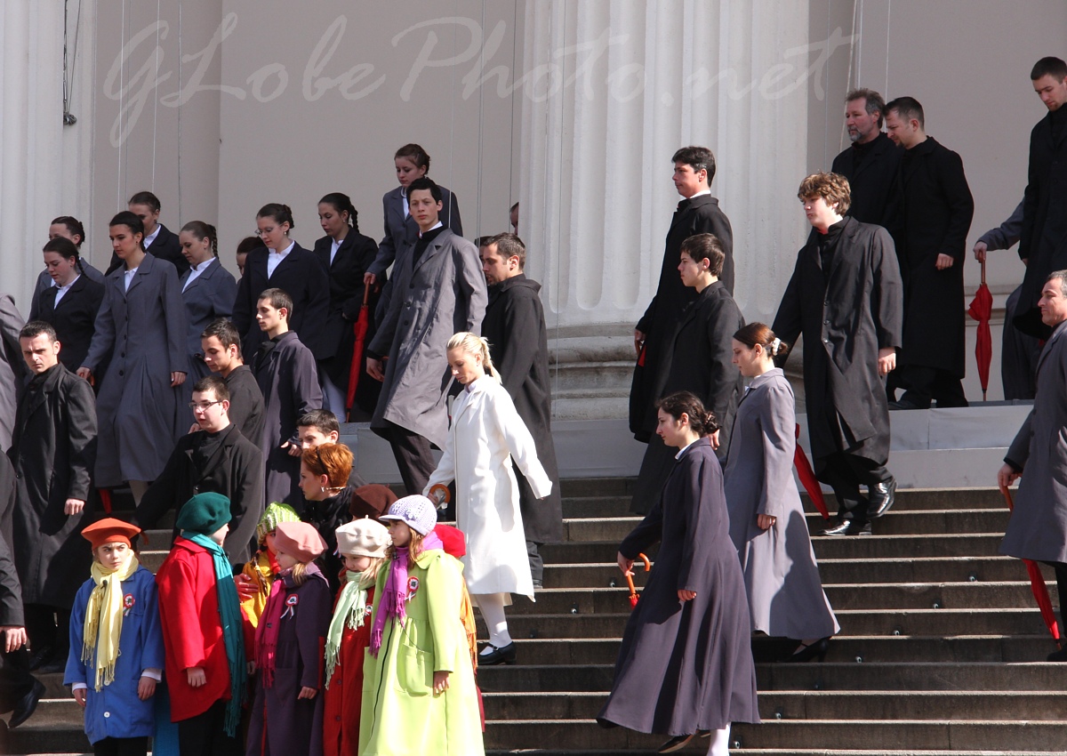
[[[178,234],[181,254],[190,268],[181,275],[181,301],[189,320],[189,377],[182,384],[185,403],[192,398],[192,388],[211,371],[204,364],[201,334],[220,317],[234,313],[237,279],[219,261],[219,236],[214,226],[203,221],[190,221]],[[192,422],[192,418],[188,418]]]

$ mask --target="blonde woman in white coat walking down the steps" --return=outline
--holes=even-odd
[[[457,333],[448,340],[447,356],[452,376],[464,391],[452,405],[445,453],[424,493],[430,495],[435,486],[456,482],[456,524],[466,536],[467,546],[463,573],[489,628],[489,644],[478,663],[513,664],[515,645],[508,634],[504,608],[511,603],[511,594],[532,600],[534,580],[511,460],[538,499],[552,492],[552,481],[538,461],[529,430],[500,384],[485,340]]]

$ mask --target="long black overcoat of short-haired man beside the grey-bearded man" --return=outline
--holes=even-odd
[[[974,200],[959,155],[927,137],[897,173],[899,212],[891,231],[904,280],[904,344],[897,364],[966,373],[964,262]],[[955,264],[936,267],[946,254]]]

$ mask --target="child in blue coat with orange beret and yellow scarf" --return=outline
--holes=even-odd
[[[156,581],[130,546],[140,532],[110,517],[81,532],[93,547],[93,577],[75,598],[64,683],[85,709],[85,735],[99,755],[146,754],[155,733],[163,635]]]

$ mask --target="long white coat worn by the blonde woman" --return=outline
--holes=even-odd
[[[552,492],[511,396],[494,378],[478,378],[452,405],[445,453],[424,493],[456,481],[456,525],[466,536],[463,574],[472,594],[514,593],[532,599],[512,459],[534,495],[543,499]]]

